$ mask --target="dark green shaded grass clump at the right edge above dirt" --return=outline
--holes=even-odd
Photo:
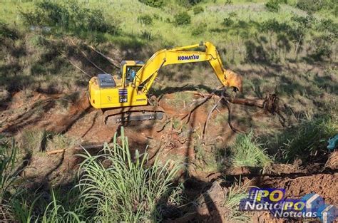
[[[277,135],[272,146],[279,147],[283,162],[307,160],[316,152],[327,150],[327,140],[337,133],[337,117],[312,118]]]

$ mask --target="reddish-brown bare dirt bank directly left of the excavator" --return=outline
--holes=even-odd
[[[75,93],[74,93],[75,94]],[[34,93],[27,98],[16,93],[4,117],[1,133],[15,134],[24,128],[43,128],[55,133],[65,133],[73,123],[91,110],[86,93],[46,95]]]

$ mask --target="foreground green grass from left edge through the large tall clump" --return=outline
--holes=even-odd
[[[46,192],[12,188],[16,150],[0,147],[0,204],[7,219],[20,222],[157,222],[168,209],[183,202],[183,185],[174,184],[180,165],[148,163],[148,152],[130,153],[128,138],[114,136],[99,155],[87,151],[79,156],[75,186]],[[10,151],[9,151],[10,150]],[[13,190],[16,189],[16,190]],[[11,191],[10,191],[11,190]],[[13,190],[13,192],[12,192]]]

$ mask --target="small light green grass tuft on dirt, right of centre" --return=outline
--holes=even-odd
[[[236,167],[267,167],[272,162],[262,145],[254,139],[252,131],[237,135],[232,145],[231,161]]]

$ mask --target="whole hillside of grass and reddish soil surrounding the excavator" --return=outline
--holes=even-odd
[[[338,204],[334,1],[0,4],[0,220],[282,222],[238,211],[250,187]],[[201,41],[243,79],[217,109],[208,62],[160,69],[165,120],[106,126],[91,107],[98,73]]]

